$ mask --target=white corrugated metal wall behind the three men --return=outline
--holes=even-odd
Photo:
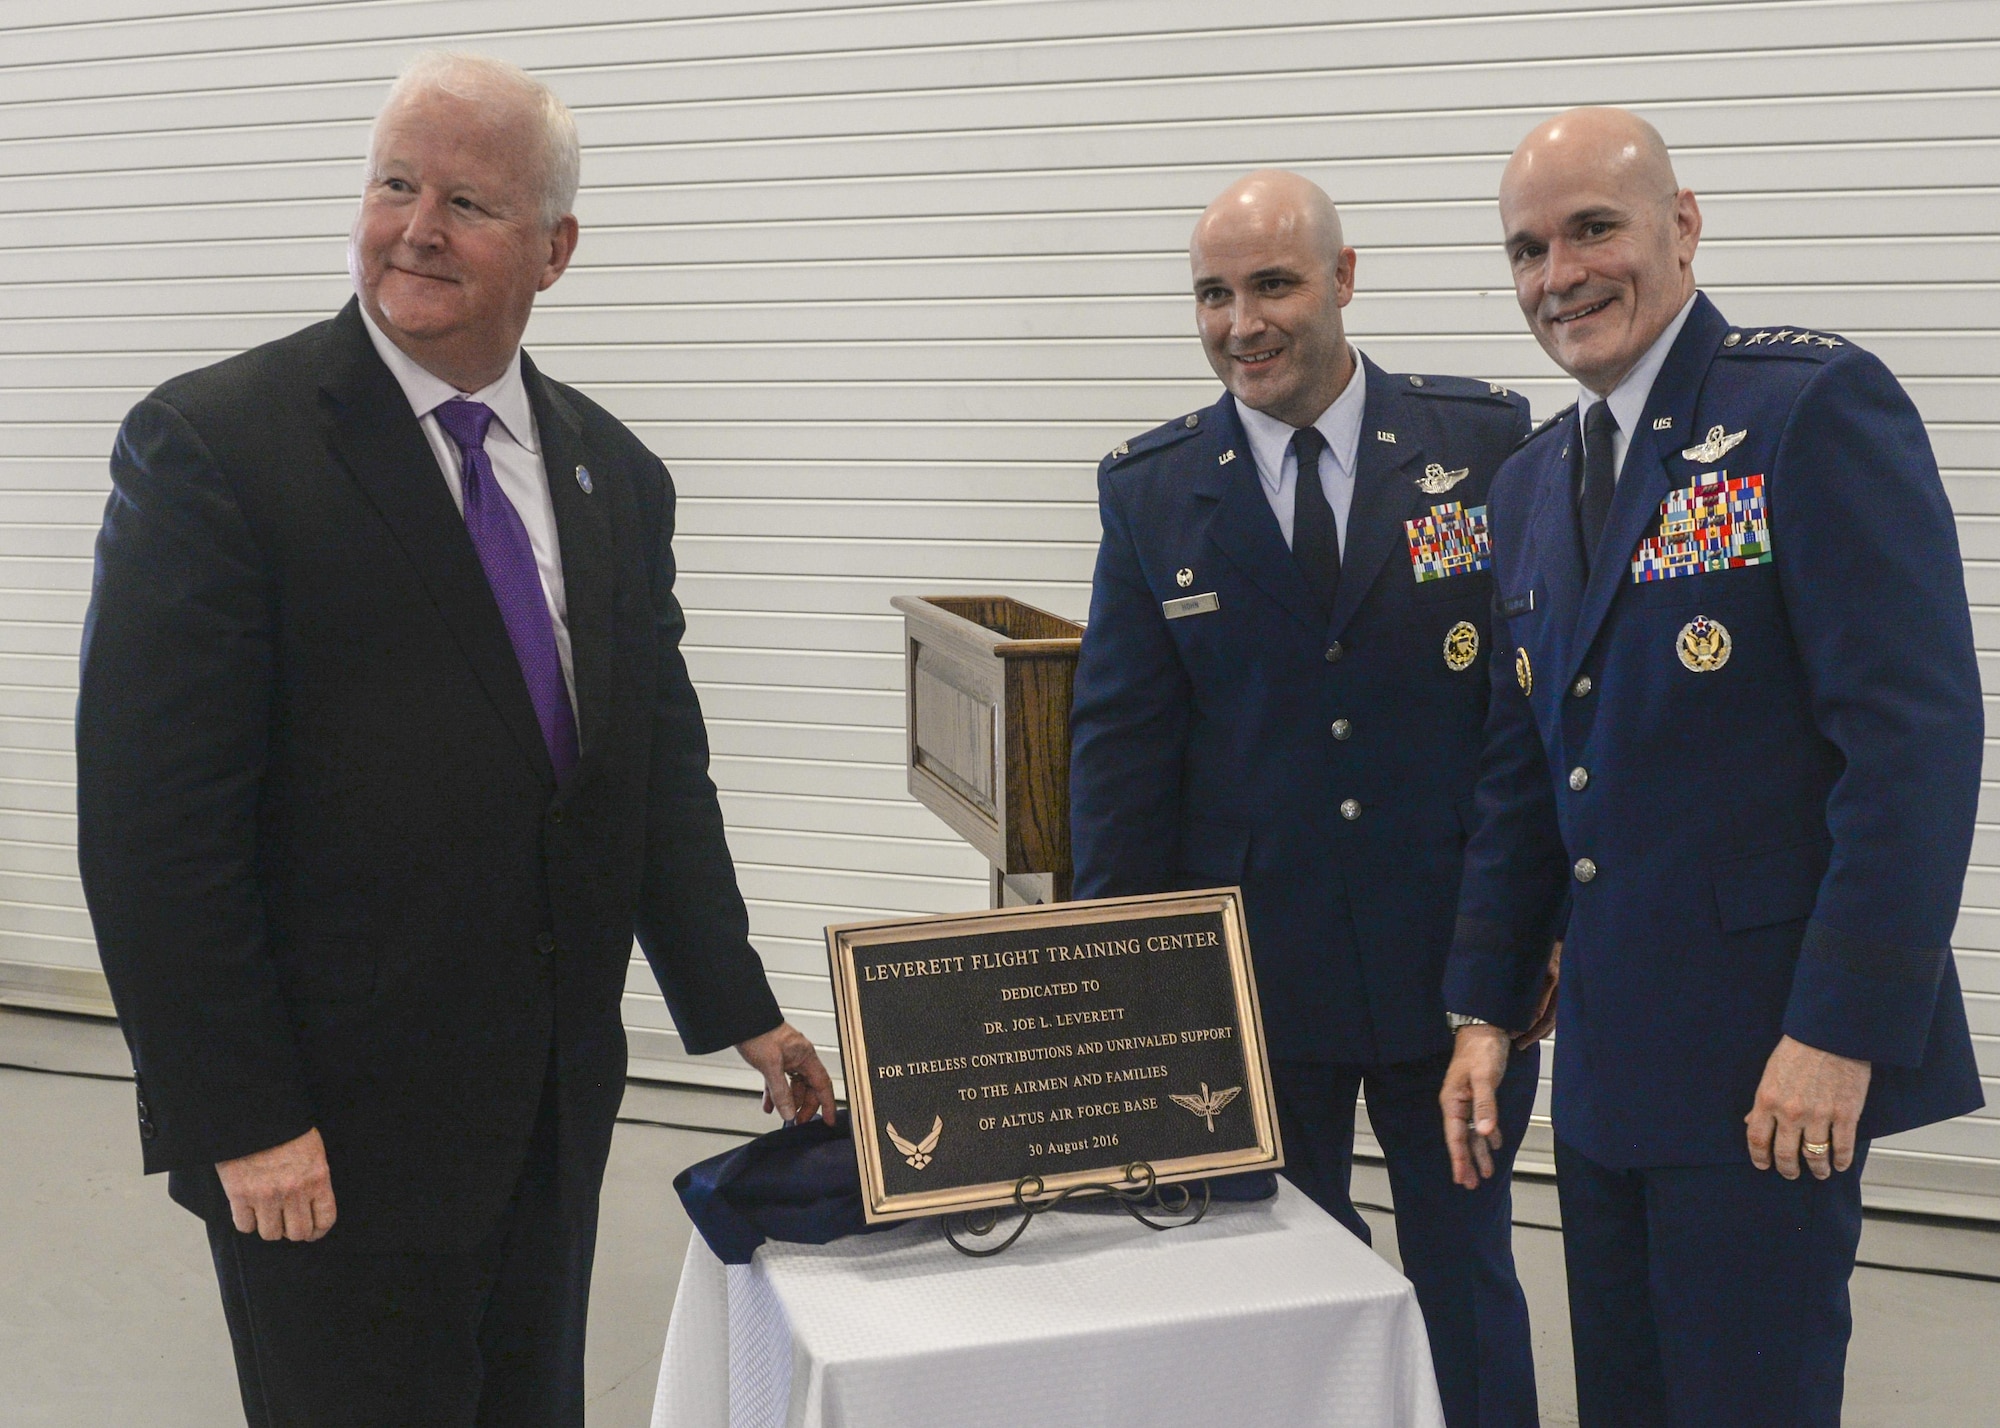
[[[528,340],[680,482],[758,948],[824,1044],[826,922],[984,900],[904,794],[888,596],[1084,612],[1092,466],[1210,400],[1186,232],[1258,164],[1342,202],[1372,356],[1548,412],[1566,384],[1522,332],[1494,182],[1550,110],[1646,112],[1702,194],[1724,312],[1848,332],[1908,384],[2000,672],[1990,0],[8,0],[0,998],[102,1006],[68,718],[112,430],[168,374],[344,300],[368,118],[434,44],[518,60],[578,112],[584,244]],[[1958,960],[2000,1102],[1996,798]],[[740,1078],[680,1054],[638,964],[628,1022],[642,1074]],[[1870,1170],[1880,1204],[2000,1216],[2000,1112]]]

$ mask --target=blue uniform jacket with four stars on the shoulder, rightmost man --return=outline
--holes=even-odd
[[[1452,1010],[1524,1024],[1568,898],[1556,1134],[1600,1164],[1740,1162],[1782,1034],[1874,1062],[1864,1136],[1972,1110],[1950,938],[1984,712],[1910,398],[1846,338],[1702,296],[1588,580],[1580,462],[1570,410],[1494,478]]]

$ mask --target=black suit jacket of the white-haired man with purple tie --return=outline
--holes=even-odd
[[[564,1174],[594,1196],[634,932],[688,1050],[780,1020],[678,648],[672,482],[616,418],[522,366],[580,706],[562,786],[352,302],[174,378],[118,434],[78,856],[146,1168],[202,1214],[226,1212],[216,1160],[318,1126],[328,1244],[470,1246],[552,1064]]]

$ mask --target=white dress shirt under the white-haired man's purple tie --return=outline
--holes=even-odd
[[[462,396],[468,402],[484,402],[494,410],[494,422],[486,428],[486,460],[494,466],[494,480],[514,504],[520,524],[528,528],[528,544],[534,546],[534,568],[542,576],[542,598],[548,600],[548,614],[556,626],[556,656],[562,660],[562,682],[570,690],[570,712],[576,712],[576,670],[570,666],[570,606],[562,594],[562,546],[556,542],[556,502],[548,496],[548,472],[542,468],[542,442],[534,430],[534,406],[528,402],[528,388],[520,380],[520,350],[498,382],[478,392],[460,392],[456,386],[422,368],[416,358],[388,340],[388,334],[374,324],[368,308],[360,308],[368,340],[376,344],[382,362],[388,364],[396,386],[410,398],[416,424],[424,428],[430,454],[438,458],[438,470],[452,492],[452,502],[462,516],[466,510],[464,476],[458,470],[460,452],[434,412]]]

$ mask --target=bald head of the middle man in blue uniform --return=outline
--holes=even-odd
[[[1240,178],[1202,210],[1188,266],[1196,328],[1222,386],[1282,422],[1314,424],[1354,374],[1340,322],[1354,250],[1334,200],[1274,168]]]

